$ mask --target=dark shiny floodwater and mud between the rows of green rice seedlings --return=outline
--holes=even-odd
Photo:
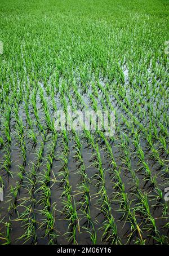
[[[124,78],[127,81],[128,72],[127,69],[124,70]],[[103,87],[105,87],[106,82],[100,79],[100,83]],[[42,90],[44,98],[47,100],[48,107],[50,109],[51,118],[54,117],[54,111],[51,107],[51,99],[50,96],[47,95],[45,86],[43,83],[39,83]],[[127,86],[127,83],[126,83]],[[80,92],[82,95],[84,105],[82,108],[85,109],[92,109],[92,103],[90,100],[90,94],[92,93],[92,89],[89,87],[88,92]],[[128,92],[130,94],[130,91]],[[70,92],[72,95],[73,106],[80,107],[79,103],[76,98],[73,98],[73,91]],[[32,94],[30,94],[31,98]],[[112,98],[112,105],[114,109],[118,113],[118,126],[119,131],[115,130],[115,134],[112,138],[108,138],[109,143],[112,148],[112,152],[114,155],[114,160],[117,164],[117,170],[120,170],[120,176],[122,183],[125,187],[125,192],[128,195],[128,200],[131,203],[130,208],[134,208],[138,202],[138,198],[136,197],[135,193],[133,192],[135,188],[134,180],[132,179],[132,175],[130,171],[126,169],[126,163],[122,161],[122,156],[124,154],[121,148],[121,135],[123,133],[128,133],[128,129],[126,125],[122,121],[122,115],[127,117],[127,113],[121,108],[121,105],[118,103],[117,99],[113,97],[113,95],[109,95],[110,99]],[[99,100],[97,100],[98,106],[100,109],[103,108],[101,105],[101,100],[103,99],[103,94],[99,92]],[[61,101],[59,93],[55,95],[55,101],[57,104],[57,108],[61,109]],[[66,99],[69,103],[69,99]],[[34,205],[32,205],[32,212],[34,215],[34,219],[36,221],[35,224],[35,234],[37,239],[35,240],[35,244],[48,244],[50,242],[50,238],[45,233],[45,226],[42,226],[43,221],[43,205],[38,204],[41,196],[38,192],[39,188],[41,188],[41,175],[44,173],[47,164],[47,156],[50,153],[50,143],[52,142],[52,133],[46,128],[46,121],[45,121],[45,113],[43,111],[42,101],[39,98],[39,94],[37,94],[37,109],[39,114],[39,120],[43,129],[45,130],[45,139],[42,137],[41,131],[38,129],[38,123],[35,119],[35,116],[32,111],[32,107],[29,106],[30,116],[33,120],[33,130],[35,135],[37,136],[37,143],[33,144],[30,138],[28,138],[28,130],[29,126],[26,122],[26,115],[24,111],[24,102],[20,103],[19,106],[19,118],[23,121],[24,126],[24,142],[26,145],[26,164],[24,166],[23,178],[21,179],[18,175],[19,173],[19,166],[23,165],[23,158],[21,155],[21,148],[19,145],[18,137],[16,134],[16,119],[15,116],[12,114],[11,121],[10,121],[10,131],[11,131],[11,140],[12,143],[10,145],[10,157],[11,157],[11,166],[10,172],[12,175],[8,175],[5,170],[2,168],[2,178],[4,182],[4,201],[1,201],[1,232],[6,233],[6,223],[11,223],[11,232],[10,232],[10,240],[11,244],[31,244],[34,240],[33,239],[24,239],[22,236],[25,232],[24,222],[23,219],[20,218],[21,214],[23,213],[24,209],[30,205],[30,189],[31,183],[29,179],[31,177],[30,171],[32,170],[33,166],[37,165],[37,152],[42,147],[43,144],[43,152],[40,160],[40,165],[36,169],[36,179],[37,182],[35,183],[35,188],[33,189],[33,197],[34,197]],[[84,107],[85,106],[85,107]],[[115,182],[115,175],[112,166],[109,164],[110,159],[109,156],[106,154],[106,145],[104,144],[103,140],[100,138],[100,135],[92,132],[94,135],[95,140],[99,144],[99,152],[102,161],[102,166],[104,169],[104,179],[105,179],[105,189],[110,201],[111,207],[111,214],[114,217],[114,222],[117,226],[117,233],[118,236],[121,237],[121,243],[126,244],[134,244],[135,243],[135,235],[132,236],[132,239],[128,240],[128,236],[130,235],[131,231],[131,224],[126,221],[124,218],[124,212],[121,209],[121,202],[120,200],[115,200],[116,189],[114,187]],[[77,215],[79,217],[79,228],[76,229],[76,242],[77,244],[92,244],[90,233],[87,232],[87,229],[91,231],[91,227],[88,228],[86,225],[86,217],[83,215],[83,211],[81,209],[81,192],[79,191],[79,184],[81,183],[81,174],[78,171],[79,165],[75,157],[75,140],[72,131],[67,132],[68,136],[68,172],[69,172],[69,184],[71,187],[71,195],[72,201],[74,202],[77,210]],[[94,153],[95,149],[88,144],[87,138],[83,131],[80,133],[78,132],[79,140],[82,144],[81,153],[83,158],[83,164],[85,167],[87,178],[90,180],[90,216],[91,222],[94,224],[94,229],[97,233],[97,244],[110,244],[109,240],[104,239],[103,236],[103,223],[105,222],[106,216],[104,216],[103,212],[100,211],[101,205],[98,201],[98,198],[101,196],[99,191],[101,189],[101,183],[97,179],[98,169],[94,165]],[[139,158],[136,155],[136,149],[133,144],[132,135],[128,135],[130,143],[128,144],[128,149],[130,152],[130,160],[131,160],[131,169],[135,171],[137,178],[139,179],[139,188],[140,191],[146,192],[148,195],[148,202],[150,207],[150,212],[155,219],[155,224],[163,236],[167,236],[167,229],[163,228],[166,224],[166,218],[163,218],[163,208],[159,204],[157,207],[154,207],[154,200],[155,200],[155,189],[152,188],[149,180],[145,180],[144,171],[141,170],[141,164],[139,162]],[[166,182],[168,179],[164,179],[161,173],[166,166],[160,166],[158,161],[154,160],[154,158],[150,157],[150,152],[148,149],[148,143],[146,142],[143,133],[140,133],[140,145],[145,153],[145,161],[148,162],[149,168],[152,172],[152,176],[155,175],[157,178],[157,184],[161,187],[162,191],[163,188],[166,186]],[[57,233],[56,240],[54,243],[56,244],[70,244],[72,240],[70,239],[70,232],[69,226],[70,221],[66,218],[64,213],[64,185],[65,181],[63,180],[63,176],[60,175],[61,169],[63,167],[63,161],[60,159],[61,153],[64,151],[63,148],[63,134],[59,131],[57,133],[57,142],[55,145],[54,150],[54,158],[52,160],[52,171],[50,176],[50,203],[51,203],[51,210],[52,214],[55,218],[55,232]],[[3,160],[3,155],[5,155],[5,151],[1,151],[1,160]],[[162,158],[166,159],[166,154],[161,155]],[[3,162],[3,161],[2,161]],[[40,175],[40,176],[39,176]],[[12,188],[16,187],[16,184],[20,184],[20,189],[17,192],[16,200],[14,199],[14,194],[12,193]],[[118,197],[117,197],[118,198]],[[16,204],[15,209],[10,208],[11,205]],[[151,207],[152,206],[152,207]],[[146,244],[153,244],[154,240],[152,239],[151,230],[147,227],[147,223],[144,222],[144,217],[137,214],[137,223],[140,226],[140,229],[145,229],[143,232],[142,239],[146,241]],[[1,244],[3,244],[3,239],[1,239]]]

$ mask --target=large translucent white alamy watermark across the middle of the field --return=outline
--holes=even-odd
[[[55,112],[55,129],[57,131],[103,131],[105,136],[113,136],[115,115],[113,111],[80,111],[68,106],[66,111],[60,109]]]

